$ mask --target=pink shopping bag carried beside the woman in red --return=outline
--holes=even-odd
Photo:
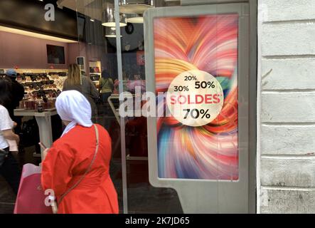
[[[51,207],[45,205],[46,197],[41,188],[41,167],[23,165],[14,214],[53,214]]]

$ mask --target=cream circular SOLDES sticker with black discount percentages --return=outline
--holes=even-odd
[[[192,127],[213,121],[223,107],[224,94],[218,80],[205,71],[186,71],[176,76],[166,95],[176,120]]]

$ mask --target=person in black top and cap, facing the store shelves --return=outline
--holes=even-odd
[[[14,120],[15,123],[17,123],[15,132],[20,133],[21,132],[21,123],[22,123],[22,117],[21,116],[15,116],[14,115],[14,109],[18,107],[20,104],[20,101],[23,100],[24,97],[24,87],[16,81],[16,76],[18,74],[14,69],[9,69],[6,71],[6,78],[11,81],[11,103],[9,104],[8,111],[9,115],[12,120]]]

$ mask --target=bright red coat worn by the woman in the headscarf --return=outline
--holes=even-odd
[[[117,214],[117,192],[110,178],[112,146],[105,128],[97,125],[100,147],[92,169],[62,202],[58,213]],[[41,182],[43,189],[52,189],[58,198],[75,185],[85,173],[95,152],[95,128],[77,125],[62,138],[56,140],[43,161]]]

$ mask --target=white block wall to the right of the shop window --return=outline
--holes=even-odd
[[[259,0],[257,212],[315,213],[315,0]]]

